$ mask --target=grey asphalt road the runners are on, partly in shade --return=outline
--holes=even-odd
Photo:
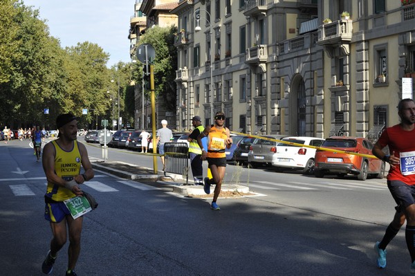
[[[87,149],[92,160],[102,157],[100,148]],[[0,156],[1,274],[42,275],[51,237],[43,218],[42,164],[28,141],[0,142]],[[109,149],[109,160],[152,166],[151,157],[121,149]],[[321,179],[228,165],[225,181],[239,181],[257,195],[219,199],[221,210],[212,211],[211,199],[95,172],[84,190],[99,206],[84,218],[77,274],[409,274],[403,230],[388,247],[387,268],[375,265],[374,242],[394,214],[385,180]],[[53,275],[64,274],[66,248]]]

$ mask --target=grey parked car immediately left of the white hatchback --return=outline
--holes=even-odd
[[[273,164],[273,156],[277,152],[277,144],[282,138],[287,137],[286,135],[266,135],[264,138],[270,138],[273,140],[259,139],[256,138],[250,150],[248,151],[248,166],[256,168],[259,166],[270,167]]]

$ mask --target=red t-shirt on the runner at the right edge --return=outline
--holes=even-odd
[[[415,169],[415,129],[405,131],[400,125],[388,127],[380,135],[378,143],[382,148],[389,145],[389,152],[392,154],[395,151],[394,155],[400,157],[400,164],[389,169],[387,180],[398,180],[407,185],[415,185],[415,174],[404,175],[405,168],[409,171]],[[405,153],[407,156],[400,156],[400,153]],[[404,174],[400,170],[401,167],[404,168]]]

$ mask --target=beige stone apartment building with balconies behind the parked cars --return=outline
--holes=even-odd
[[[414,70],[415,4],[406,3],[179,1],[178,128],[222,110],[230,129],[249,134],[376,140],[413,95],[402,85]]]

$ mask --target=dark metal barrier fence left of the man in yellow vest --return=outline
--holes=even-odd
[[[165,151],[165,176],[166,173],[181,174],[186,176],[186,185],[189,182],[189,147],[185,142],[166,142]]]

